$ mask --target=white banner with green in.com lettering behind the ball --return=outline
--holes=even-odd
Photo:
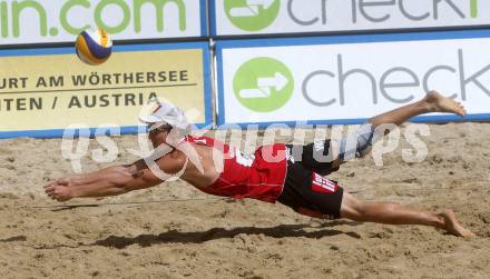
[[[207,36],[205,0],[2,0],[0,44],[72,42],[87,28],[114,40]]]

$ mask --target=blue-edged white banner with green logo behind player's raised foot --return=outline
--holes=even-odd
[[[219,124],[363,122],[432,89],[490,119],[490,30],[220,41],[217,56]]]

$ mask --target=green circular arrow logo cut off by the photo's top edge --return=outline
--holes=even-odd
[[[281,0],[225,0],[229,21],[244,31],[259,31],[274,22]]]

